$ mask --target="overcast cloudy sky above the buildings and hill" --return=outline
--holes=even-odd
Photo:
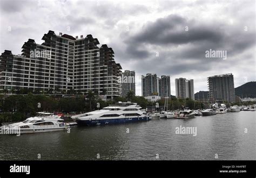
[[[107,44],[123,69],[194,79],[207,90],[207,77],[233,73],[235,87],[256,81],[255,1],[18,1],[0,0],[1,53],[21,54],[29,38],[38,44],[56,34],[92,34]],[[209,49],[227,59],[206,58]]]

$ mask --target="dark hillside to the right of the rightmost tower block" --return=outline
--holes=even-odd
[[[235,95],[241,98],[256,98],[256,82],[247,82],[240,87],[235,88]]]

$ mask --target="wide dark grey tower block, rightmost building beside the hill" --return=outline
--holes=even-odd
[[[233,74],[214,75],[207,78],[208,99],[235,102]]]

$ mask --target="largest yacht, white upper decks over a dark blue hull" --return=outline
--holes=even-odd
[[[103,108],[86,112],[81,115],[72,116],[78,125],[106,125],[118,123],[130,123],[150,120],[150,117],[141,111],[142,107],[137,103],[118,102]]]

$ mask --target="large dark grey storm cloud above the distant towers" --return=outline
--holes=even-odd
[[[186,26],[188,31],[185,31]],[[141,63],[144,62],[143,59],[150,58],[150,60],[147,59],[150,61],[147,64],[154,66],[154,69],[176,74],[192,70],[205,71],[215,66],[216,60],[205,58],[205,51],[209,49],[227,50],[228,59],[231,59],[233,55],[239,54],[255,44],[253,35],[255,35],[254,31],[245,32],[242,27],[237,29],[221,22],[211,24],[198,22],[193,18],[186,19],[178,15],[170,15],[146,23],[142,30],[126,36],[124,41],[127,44],[126,51]],[[137,54],[134,52],[138,51],[138,47],[143,47],[144,53],[134,55]],[[149,56],[152,49],[154,52],[160,50],[158,62],[164,63],[164,67],[158,68],[156,57]],[[190,60],[193,65],[184,65],[186,60]],[[233,60],[232,64],[237,62]],[[143,65],[143,69],[149,68],[147,64]]]

